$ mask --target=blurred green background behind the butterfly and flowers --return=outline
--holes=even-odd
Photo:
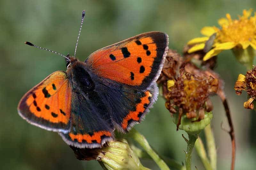
[[[0,0],[0,169],[101,169],[97,161],[79,161],[61,137],[28,124],[17,113],[22,95],[56,70],[66,70],[65,60],[55,54],[29,47],[31,41],[62,54],[73,54],[82,10],[86,11],[77,56],[84,61],[93,51],[147,31],[169,35],[170,48],[182,52],[185,43],[201,36],[203,26],[217,26],[217,20],[230,13],[232,18],[243,9],[254,8],[255,0],[183,0],[183,1],[30,1]],[[216,71],[226,82],[225,91],[235,124],[236,169],[256,166],[256,116],[243,108],[246,95],[233,90],[237,75],[246,69],[231,51],[219,55]],[[218,169],[229,169],[231,146],[224,108],[218,97],[214,103],[212,127],[216,138]],[[146,120],[135,128],[161,155],[185,158],[186,143],[176,132],[172,118],[159,97]],[[148,168],[158,169],[151,160],[142,160]],[[203,169],[193,155],[193,167]]]

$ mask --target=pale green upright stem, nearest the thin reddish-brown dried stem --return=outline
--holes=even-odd
[[[206,145],[208,150],[208,155],[211,161],[211,166],[213,170],[217,169],[217,152],[214,136],[212,133],[211,124],[207,125],[204,129],[204,134],[206,138]]]

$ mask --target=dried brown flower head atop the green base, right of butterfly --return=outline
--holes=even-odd
[[[168,93],[166,95],[166,108],[172,113],[179,113],[177,130],[181,116],[185,114],[188,119],[204,119],[204,113],[212,110],[212,102],[209,99],[211,93],[218,90],[218,79],[213,77],[198,76],[180,69],[180,76],[176,80],[167,81]]]

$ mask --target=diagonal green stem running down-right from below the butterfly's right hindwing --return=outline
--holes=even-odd
[[[132,137],[140,146],[148,153],[148,155],[156,162],[161,170],[170,170],[170,168],[166,165],[166,163],[161,159],[157,153],[150,147],[147,139],[141,135],[134,128],[128,134],[129,137]]]

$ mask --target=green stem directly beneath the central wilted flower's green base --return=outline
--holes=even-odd
[[[195,146],[197,136],[188,134],[188,138],[189,138],[189,140],[188,140],[185,164],[186,164],[187,170],[191,170],[192,151]]]

